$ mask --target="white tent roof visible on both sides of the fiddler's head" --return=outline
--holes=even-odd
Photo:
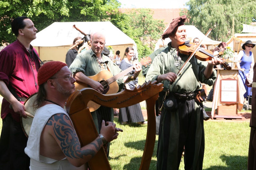
[[[185,25],[185,27],[187,29],[187,40],[190,40],[190,42],[193,42],[194,38],[199,38],[200,41],[204,38],[202,44],[205,45],[219,45],[219,43],[221,42],[205,37],[205,34],[199,31],[194,25]],[[155,50],[162,46],[166,46],[170,41],[170,38],[165,38],[163,44],[162,39],[159,39],[158,42],[155,44]]]

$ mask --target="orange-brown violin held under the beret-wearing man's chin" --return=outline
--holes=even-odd
[[[185,55],[191,55],[192,53],[195,52],[195,49],[197,48],[197,45],[194,42],[189,42],[189,43],[185,43],[183,45],[179,46],[179,52],[181,54],[185,54]],[[222,55],[222,52],[219,52],[219,55]],[[201,61],[208,61],[211,58],[214,58],[216,56],[213,55],[213,52],[204,48],[199,48],[194,56]],[[222,63],[222,65],[227,69],[227,70],[231,70],[231,67],[228,66],[225,62]]]

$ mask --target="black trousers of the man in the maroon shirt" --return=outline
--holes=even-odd
[[[3,119],[0,137],[0,169],[29,170],[30,158],[24,152],[26,146],[27,137],[20,122],[8,114]]]

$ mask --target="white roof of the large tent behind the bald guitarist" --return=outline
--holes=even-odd
[[[91,30],[94,32],[103,32],[106,36],[106,44],[108,45],[125,45],[136,43],[114,26],[111,22],[55,22],[42,31],[37,33],[37,38],[31,42],[31,45],[38,47],[53,47],[73,44],[75,37],[84,37],[75,28],[76,25],[82,32],[90,34]]]

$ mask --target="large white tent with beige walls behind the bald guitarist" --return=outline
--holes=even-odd
[[[119,50],[120,55],[124,54],[125,48],[132,46],[137,52],[136,43],[114,26],[111,22],[55,22],[39,33],[37,38],[31,42],[39,53],[41,60],[64,61],[66,53],[71,47],[75,37],[84,37],[82,33],[72,28],[76,25],[85,34],[90,34],[91,31],[102,32],[106,36],[106,44],[113,47],[114,52]]]

